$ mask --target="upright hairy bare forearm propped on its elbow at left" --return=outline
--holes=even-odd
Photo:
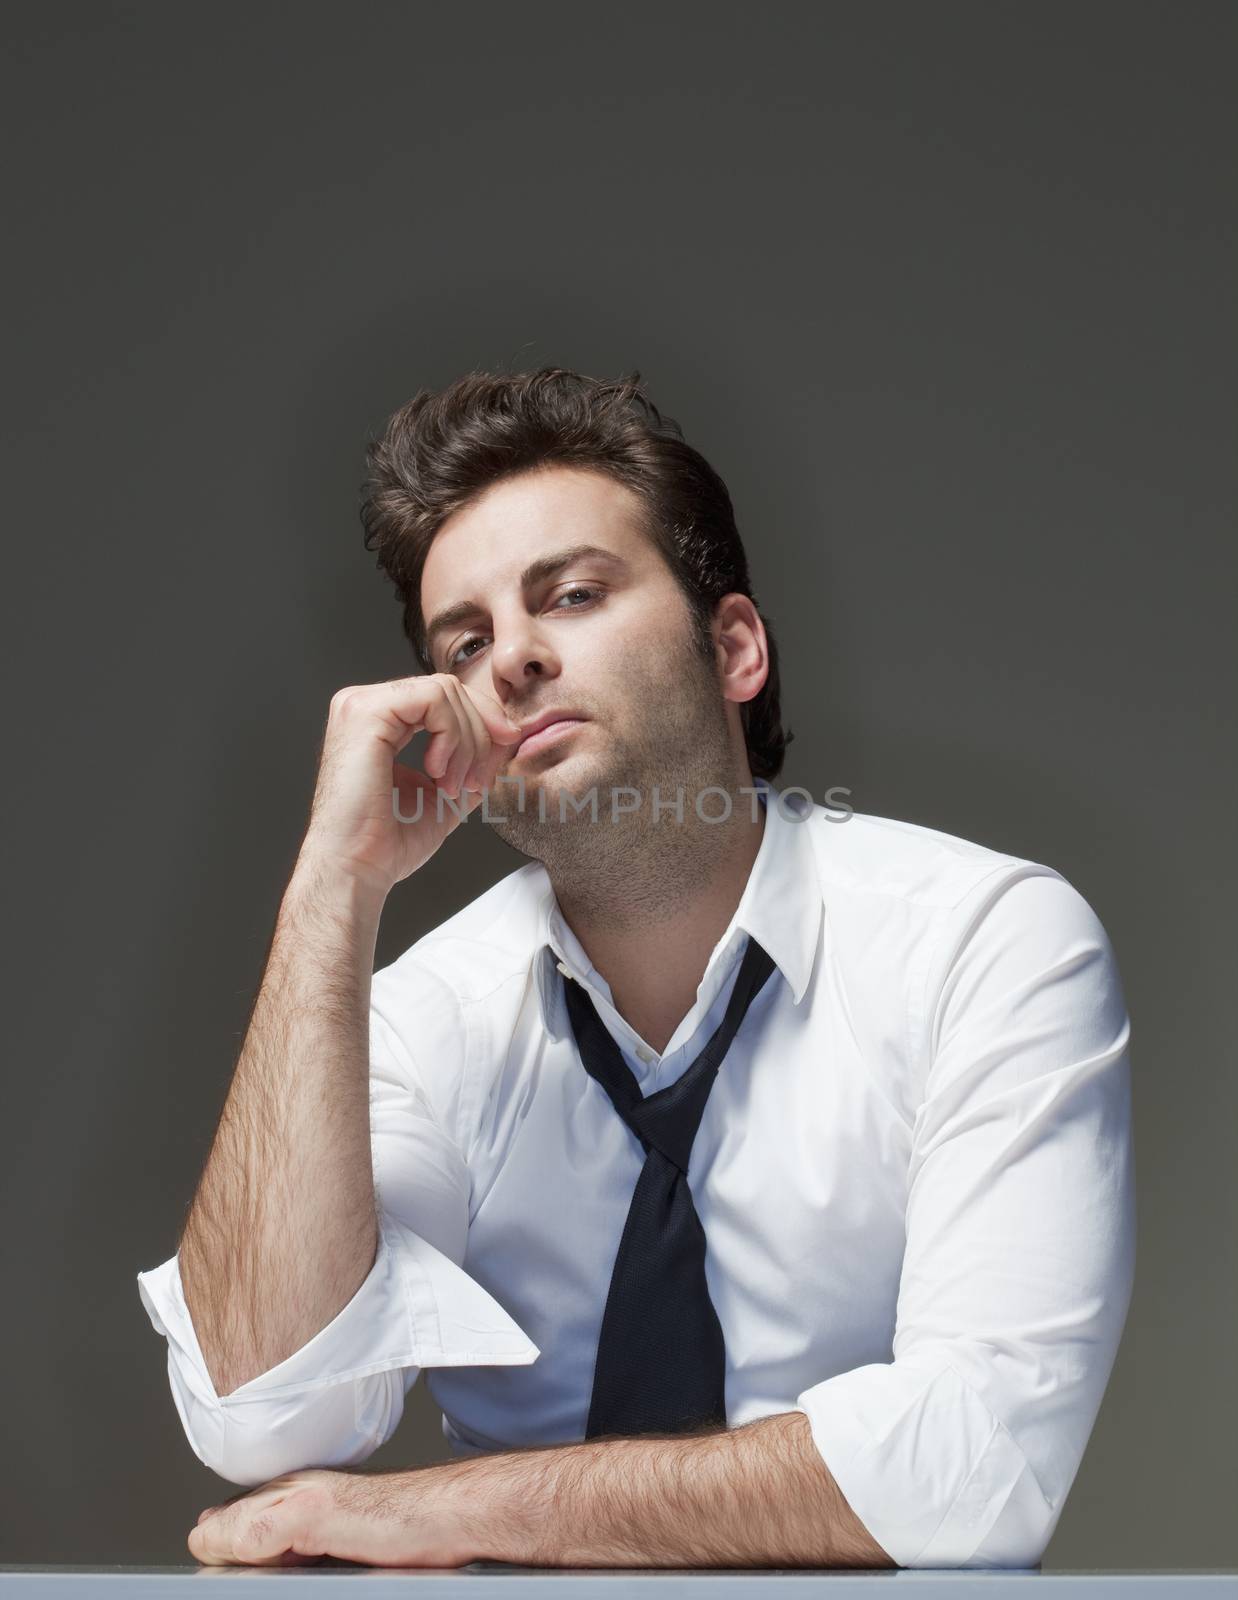
[[[301,1349],[374,1262],[368,1024],[381,912],[373,890],[304,858],[283,896],[179,1243],[219,1395]]]

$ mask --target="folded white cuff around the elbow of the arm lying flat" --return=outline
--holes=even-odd
[[[1008,1502],[1020,1526],[990,1539],[1009,1552],[992,1565],[1040,1562],[1056,1514],[1011,1434],[952,1366],[857,1366],[805,1389],[793,1410],[899,1566],[966,1566]]]

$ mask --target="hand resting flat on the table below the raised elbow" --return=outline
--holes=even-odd
[[[205,1566],[464,1566],[475,1560],[443,1506],[433,1469],[288,1472],[222,1506],[189,1533]]]

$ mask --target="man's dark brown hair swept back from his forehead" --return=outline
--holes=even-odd
[[[366,446],[365,547],[403,602],[403,627],[424,672],[433,672],[421,610],[421,576],[433,536],[489,485],[552,464],[590,467],[645,502],[645,533],[683,590],[693,640],[712,654],[710,619],[726,594],[753,605],[749,562],[731,496],[705,458],[645,394],[640,373],[608,382],[560,366],[536,373],[472,371],[440,394],[421,390]],[[763,618],[769,675],[739,710],[753,778],[773,779],[795,738],[782,730],[777,645]]]

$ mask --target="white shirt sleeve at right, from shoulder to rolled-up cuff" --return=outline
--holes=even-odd
[[[795,1410],[901,1566],[1035,1566],[1134,1286],[1129,1021],[1105,930],[1059,874],[1008,869],[945,917],[918,1016],[894,1360]]]

